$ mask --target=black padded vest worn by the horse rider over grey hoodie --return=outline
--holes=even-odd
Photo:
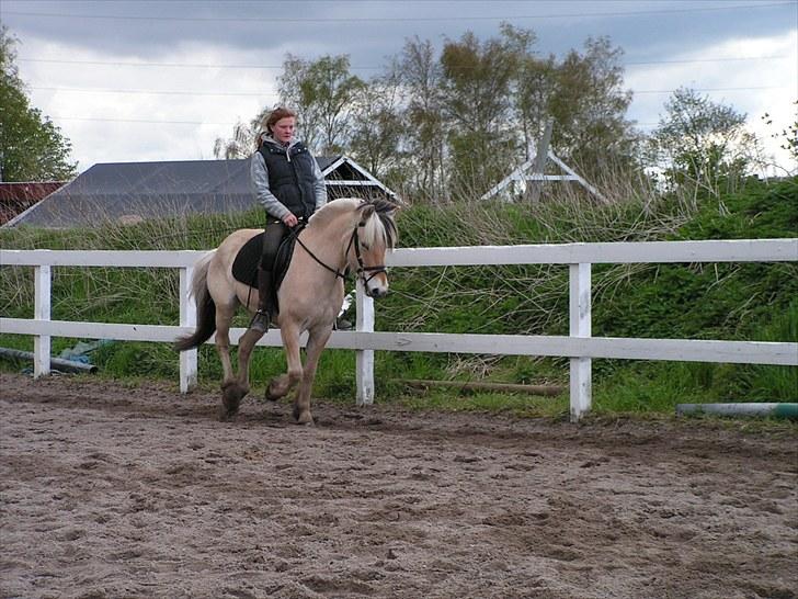
[[[310,218],[316,211],[314,157],[304,144],[294,144],[286,152],[272,144],[258,150],[266,161],[269,188],[274,196],[297,218]]]

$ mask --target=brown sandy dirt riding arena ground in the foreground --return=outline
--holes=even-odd
[[[0,597],[798,596],[795,427],[217,402],[0,375]]]

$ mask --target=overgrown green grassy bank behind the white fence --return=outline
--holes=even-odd
[[[639,193],[638,193],[639,192]],[[794,237],[798,180],[752,181],[720,197],[651,194],[604,206],[573,196],[528,204],[417,203],[400,212],[401,247]],[[637,195],[636,195],[637,193]],[[235,228],[258,226],[260,214],[183,217],[82,231],[0,231],[3,248],[205,249]],[[0,269],[0,313],[33,314],[32,269]],[[53,318],[102,323],[178,324],[176,272],[163,269],[56,268]],[[631,264],[593,270],[593,334],[651,338],[798,341],[798,264]],[[376,330],[567,335],[568,269],[557,265],[408,268],[391,272],[392,293],[377,306]],[[244,326],[240,316],[237,326]],[[54,339],[53,352],[73,339]],[[32,349],[32,339],[0,335],[0,346]],[[175,381],[178,357],[166,344],[116,342],[93,355],[100,376]],[[2,369],[14,369],[0,364]],[[277,348],[259,349],[252,363],[256,388],[283,372]],[[597,414],[673,414],[687,402],[796,400],[798,369],[681,362],[596,360]],[[221,368],[212,347],[201,348],[200,380],[216,386]],[[410,391],[396,378],[567,383],[568,360],[447,353],[378,352],[378,402],[411,408],[505,411],[561,418],[567,397]],[[354,352],[328,350],[316,395],[353,402]],[[260,394],[261,391],[256,391]]]

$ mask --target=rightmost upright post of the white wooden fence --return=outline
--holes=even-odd
[[[591,265],[569,265],[570,336],[590,337]],[[590,410],[592,395],[591,359],[571,358],[571,422]]]

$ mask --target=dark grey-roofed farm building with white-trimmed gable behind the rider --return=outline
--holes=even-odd
[[[331,200],[396,194],[346,156],[317,157]],[[249,159],[94,165],[4,226],[46,228],[137,223],[176,214],[219,214],[258,206]]]

